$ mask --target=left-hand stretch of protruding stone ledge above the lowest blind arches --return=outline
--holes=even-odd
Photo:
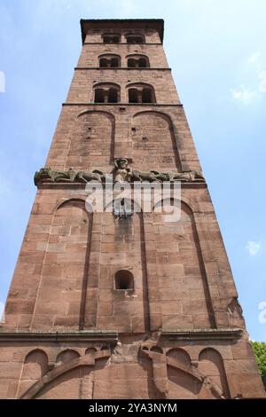
[[[118,333],[111,331],[11,332],[0,329],[1,342],[109,342],[116,344]]]

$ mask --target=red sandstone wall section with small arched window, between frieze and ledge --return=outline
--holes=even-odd
[[[161,215],[147,213],[142,230],[139,215],[133,223],[127,221],[127,230],[120,230],[122,226],[110,213],[93,215],[90,220],[81,188],[55,185],[37,193],[12,280],[4,327],[78,328],[86,279],[89,327],[103,328],[106,322],[108,329],[134,331],[125,317],[130,317],[130,311],[141,316],[144,301],[150,304],[154,330],[162,323],[171,329],[245,327],[206,188],[183,190],[184,222],[164,224]],[[145,242],[145,248],[140,242]],[[90,264],[86,271],[85,261]],[[145,268],[147,300],[143,300],[141,289]],[[123,304],[124,312],[119,313],[118,307],[115,312],[113,303],[118,295],[111,288],[113,274],[119,269],[134,272],[140,310],[136,298],[129,297]],[[98,292],[103,302],[99,310],[95,306]],[[109,309],[104,307],[108,302]],[[170,302],[175,303],[173,311],[169,310]],[[101,311],[105,311],[103,316]]]

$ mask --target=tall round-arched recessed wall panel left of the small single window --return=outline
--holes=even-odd
[[[89,271],[86,259],[90,255],[92,224],[93,214],[86,210],[84,200],[73,198],[58,202],[52,216],[50,237],[45,249],[46,256],[43,259],[33,328],[37,327],[35,319],[37,320],[40,315],[47,319],[47,325],[43,324],[43,327],[48,328],[49,320],[52,319],[53,327],[56,329],[82,328],[86,302],[85,284]],[[50,273],[49,256],[47,256],[55,248],[59,276]],[[74,255],[77,253],[79,257]],[[75,259],[72,270],[71,258]],[[49,297],[47,291],[51,292]]]

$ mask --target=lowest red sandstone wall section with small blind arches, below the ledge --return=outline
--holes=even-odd
[[[162,342],[159,348],[128,338],[114,350],[105,343],[6,342],[0,355],[0,398],[264,396],[246,341]]]

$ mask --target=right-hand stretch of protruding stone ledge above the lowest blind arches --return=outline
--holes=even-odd
[[[161,338],[168,340],[235,340],[239,339],[243,334],[240,328],[213,328],[213,329],[175,329],[163,330],[160,334]]]

